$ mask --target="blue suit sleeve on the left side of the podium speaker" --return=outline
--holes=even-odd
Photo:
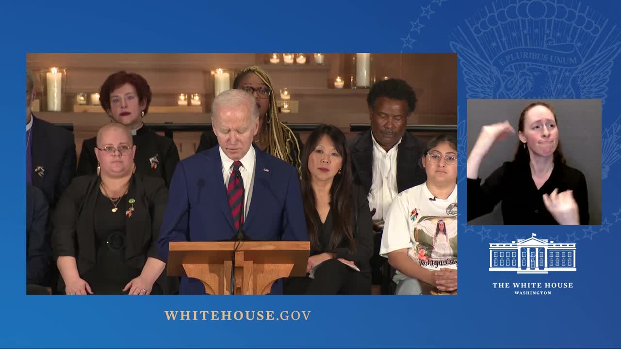
[[[158,251],[163,261],[168,261],[168,245],[175,241],[189,241],[188,181],[180,162],[170,183],[168,205],[161,223]]]

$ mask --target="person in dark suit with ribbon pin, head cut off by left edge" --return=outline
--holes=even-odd
[[[53,216],[76,171],[76,145],[73,133],[32,115],[35,92],[32,73],[26,71],[26,183],[43,191]]]

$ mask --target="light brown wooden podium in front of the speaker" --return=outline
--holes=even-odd
[[[266,294],[279,278],[305,276],[311,243],[307,241],[171,242],[168,276],[202,281],[208,294]]]

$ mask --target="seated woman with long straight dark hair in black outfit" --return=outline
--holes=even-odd
[[[302,201],[311,240],[306,278],[290,278],[288,294],[370,294],[371,212],[351,184],[347,140],[333,125],[311,132],[302,156]]]

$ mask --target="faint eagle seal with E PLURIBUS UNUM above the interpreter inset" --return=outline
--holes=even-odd
[[[619,29],[579,2],[497,1],[453,35],[468,98],[605,99],[621,52]]]

